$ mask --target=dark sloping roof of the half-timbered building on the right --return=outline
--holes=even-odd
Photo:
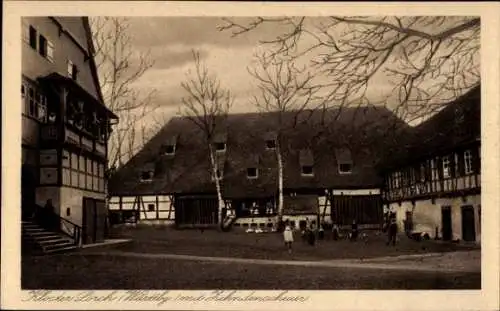
[[[477,86],[412,130],[407,148],[386,163],[394,169],[433,155],[440,155],[481,139],[481,87]],[[390,162],[390,164],[389,164]]]

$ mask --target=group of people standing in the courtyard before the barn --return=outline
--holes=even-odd
[[[396,222],[396,217],[391,217],[388,221],[385,222],[384,232],[387,232],[387,245],[396,245],[396,237],[398,233],[398,226]],[[348,234],[348,238],[351,241],[356,241],[359,236],[359,228],[356,220],[353,220],[351,224],[351,230]],[[302,237],[310,244],[314,245],[316,240],[315,228],[313,224],[311,224],[306,219],[306,226],[302,231]],[[318,238],[324,238],[324,229],[323,226],[320,226],[318,229]],[[332,238],[333,240],[339,240],[341,238],[340,227],[337,224],[332,226]],[[285,221],[285,227],[283,231],[283,240],[285,242],[285,246],[288,249],[288,252],[292,252],[292,244],[294,242],[293,238],[293,227],[289,220]]]

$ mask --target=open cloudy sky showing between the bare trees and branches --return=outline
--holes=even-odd
[[[229,19],[247,24],[254,18]],[[460,22],[460,19],[458,17],[454,21],[453,17],[446,18],[443,26],[446,26],[446,22]],[[326,21],[324,17],[308,20],[315,25]],[[134,87],[144,93],[156,90],[154,104],[158,109],[154,117],[161,122],[180,113],[181,99],[186,95],[181,82],[186,81],[188,71],[194,69],[193,50],[200,52],[209,71],[219,78],[223,87],[231,91],[234,97],[231,113],[258,111],[252,104],[252,98],[257,94],[256,81],[247,68],[252,65],[254,54],[263,50],[259,43],[261,40],[274,39],[289,29],[282,24],[264,23],[243,35],[232,36],[230,30],[218,29],[224,24],[221,17],[129,17],[127,21],[132,49],[137,53],[150,53],[154,61],[154,66],[135,82]],[[438,27],[434,28],[430,32],[441,31]],[[336,28],[335,31],[342,32],[344,29]],[[303,46],[310,46],[315,41],[312,37],[302,37],[300,42]],[[326,77],[308,67],[309,61],[310,58],[306,57],[304,62],[299,61],[299,66],[311,70],[317,82],[326,82]],[[374,76],[370,80],[367,97],[376,101],[390,93],[391,89],[392,85],[386,77]],[[144,120],[144,123],[148,122],[151,120]]]

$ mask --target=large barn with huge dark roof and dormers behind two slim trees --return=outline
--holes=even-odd
[[[277,120],[282,125],[277,127]],[[230,114],[214,138],[222,196],[235,226],[270,227],[278,202],[279,139],[284,219],[382,223],[377,164],[409,126],[382,107]],[[203,133],[175,117],[109,182],[113,223],[217,223],[216,187]],[[234,213],[233,213],[234,212]]]

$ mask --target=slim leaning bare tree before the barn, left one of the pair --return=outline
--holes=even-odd
[[[200,53],[193,51],[194,72],[188,72],[187,80],[181,83],[187,95],[182,98],[181,114],[193,122],[203,133],[208,147],[212,179],[217,191],[218,223],[222,226],[222,210],[225,207],[222,198],[218,154],[214,149],[217,131],[223,130],[233,97],[223,88],[217,76],[211,74],[200,60]],[[219,175],[220,174],[220,175]]]

